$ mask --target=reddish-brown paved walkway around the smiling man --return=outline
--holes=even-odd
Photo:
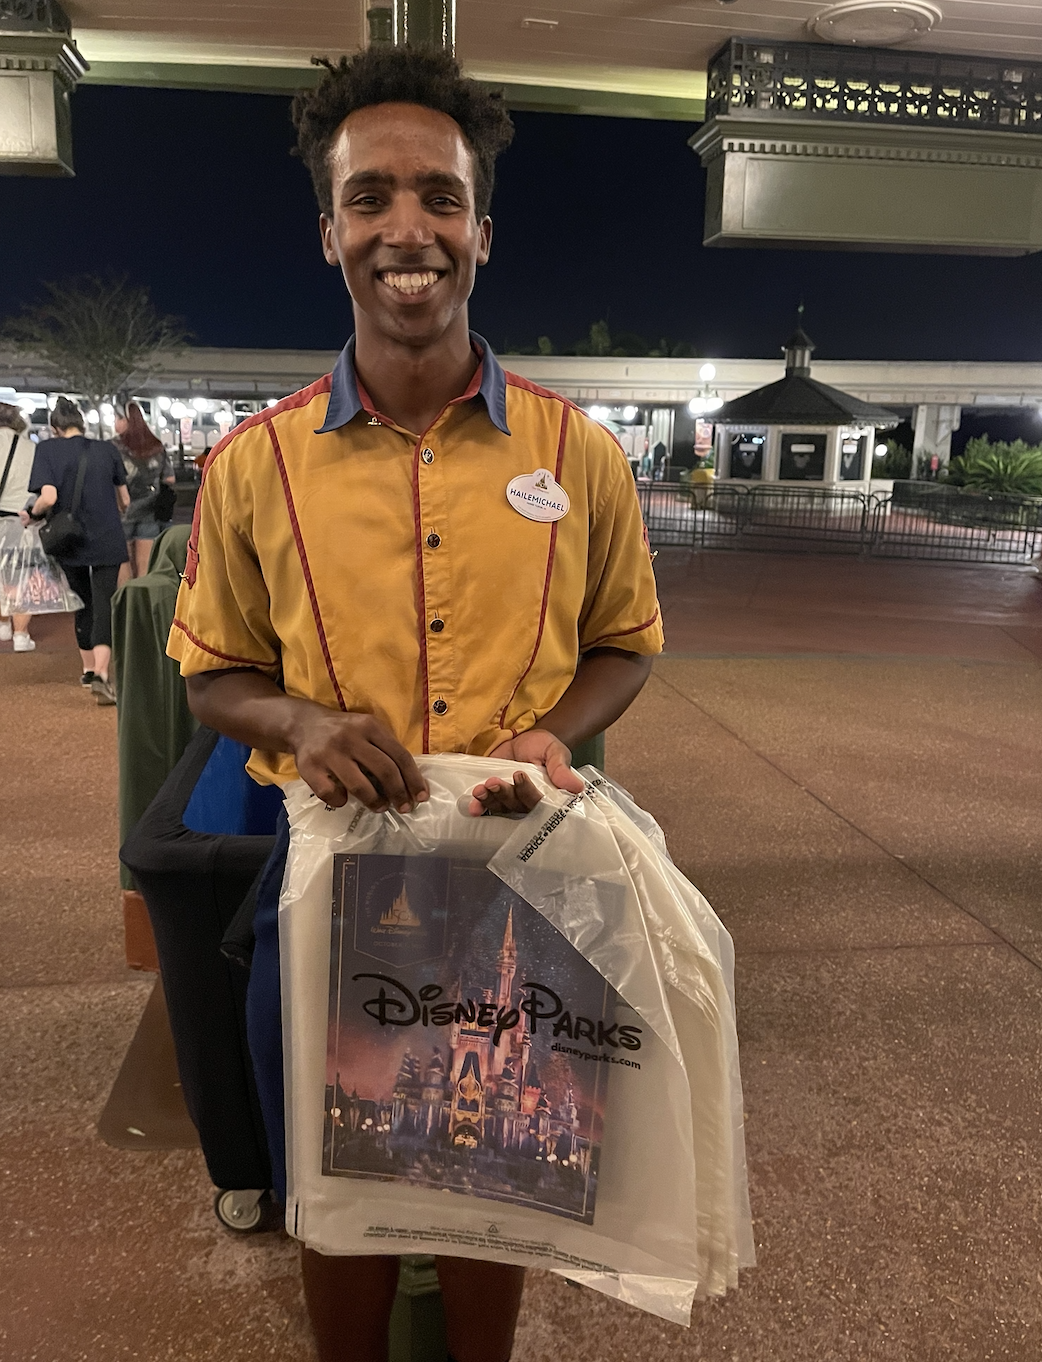
[[[1037,1362],[1042,584],[658,567],[670,654],[607,765],[734,934],[759,1265],[689,1331],[531,1273],[515,1362]],[[0,1355],[309,1362],[293,1246],[222,1234],[198,1152],[94,1132],[150,981],[114,716],[49,631],[0,655]]]

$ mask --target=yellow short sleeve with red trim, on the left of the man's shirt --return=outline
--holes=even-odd
[[[282,651],[260,564],[227,486],[232,462],[227,455],[217,459],[203,479],[189,541],[193,567],[177,594],[166,651],[185,677],[256,667],[278,680]]]

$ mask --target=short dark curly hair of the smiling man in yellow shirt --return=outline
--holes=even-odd
[[[315,90],[293,101],[297,151],[311,172],[319,208],[332,217],[330,147],[336,129],[356,109],[372,104],[420,104],[454,118],[474,162],[474,211],[484,218],[492,203],[496,157],[514,138],[503,98],[467,80],[447,52],[429,48],[375,46],[354,57],[312,57],[326,67]]]

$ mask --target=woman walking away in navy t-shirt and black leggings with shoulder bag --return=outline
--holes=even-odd
[[[57,440],[37,445],[29,490],[37,493],[30,516],[42,520],[53,511],[72,511],[83,530],[78,548],[61,556],[68,584],[84,602],[76,612],[76,643],[83,662],[82,684],[98,704],[116,704],[109,680],[112,656],[112,597],[120,565],[127,561],[121,512],[129,505],[127,471],[109,440],[83,434],[83,413],[68,398],[59,398],[50,415]],[[79,505],[74,508],[80,459],[86,474]]]

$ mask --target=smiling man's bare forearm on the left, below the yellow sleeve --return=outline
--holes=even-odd
[[[208,729],[262,752],[296,752],[301,720],[321,706],[289,696],[262,671],[188,677],[188,707]]]

